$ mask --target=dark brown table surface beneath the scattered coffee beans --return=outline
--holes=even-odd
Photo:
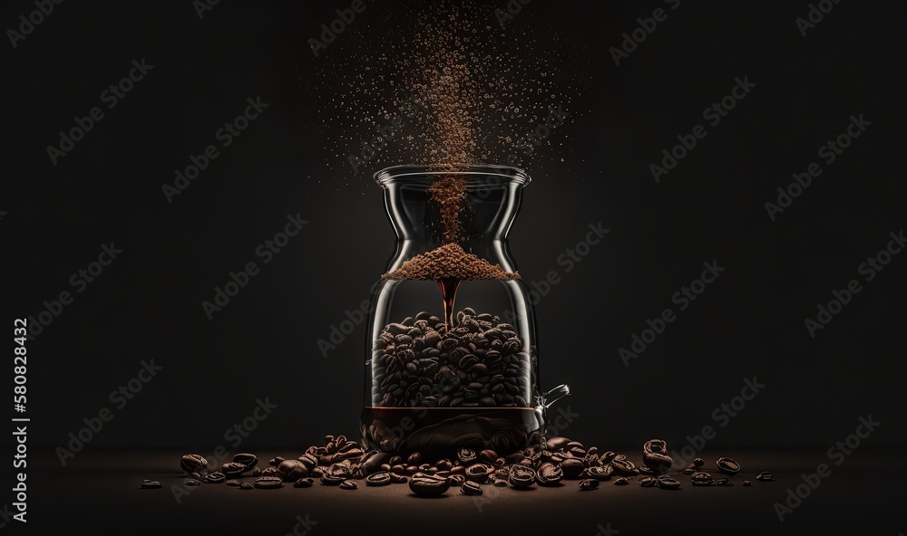
[[[902,455],[888,450],[858,450],[831,460],[824,449],[702,453],[707,468],[720,455],[743,469],[733,487],[693,487],[678,474],[676,492],[602,482],[580,492],[577,481],[557,488],[528,491],[483,486],[482,497],[456,489],[438,498],[412,494],[394,484],[345,491],[316,483],[296,489],[240,490],[225,484],[187,488],[178,502],[174,485],[181,452],[82,452],[61,466],[53,451],[29,452],[26,483],[27,523],[6,521],[14,533],[62,533],[88,529],[94,534],[882,534],[907,531],[907,491]],[[274,455],[301,453],[258,451],[259,467]],[[631,461],[640,460],[628,453]],[[834,464],[841,461],[841,464]],[[804,484],[803,474],[829,464],[831,474],[818,480],[793,512],[780,521],[775,503],[785,504],[788,490]],[[756,481],[762,470],[775,482]],[[15,478],[15,477],[14,477]],[[161,481],[161,489],[142,490],[142,479]],[[251,481],[251,478],[247,478]],[[753,485],[745,487],[744,480]],[[7,492],[7,497],[12,494]],[[10,501],[12,503],[12,501]],[[297,517],[298,516],[298,517]],[[300,523],[307,522],[307,527]],[[610,531],[610,532],[609,532]]]

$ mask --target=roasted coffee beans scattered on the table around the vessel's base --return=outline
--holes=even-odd
[[[637,466],[627,455],[613,451],[600,451],[596,446],[586,447],[567,437],[551,437],[544,448],[528,448],[521,452],[502,455],[493,450],[476,452],[460,448],[453,459],[424,460],[420,453],[405,457],[377,450],[363,450],[346,436],[325,436],[325,445],[309,446],[297,458],[276,456],[264,469],[258,468],[258,456],[250,453],[234,455],[220,467],[210,467],[201,455],[184,455],[180,469],[186,474],[186,485],[218,484],[226,482],[241,490],[278,489],[285,483],[294,488],[312,487],[316,480],[321,485],[337,486],[353,491],[357,481],[365,480],[368,487],[408,483],[409,489],[419,496],[437,496],[454,488],[463,495],[482,495],[484,485],[510,486],[527,489],[533,486],[557,487],[564,481],[574,484],[579,491],[590,492],[601,482],[611,480],[615,485],[629,485],[639,478],[642,487],[662,490],[679,490],[680,480],[670,470],[668,445],[652,439],[643,445],[643,463]],[[740,464],[728,457],[720,457],[716,471],[729,477],[715,478],[705,468],[705,461],[697,458],[682,473],[689,475],[693,486],[733,486],[733,477],[740,472]],[[227,474],[231,479],[227,480]],[[249,477],[253,483],[242,480]],[[774,476],[763,471],[756,475],[760,482],[774,481]],[[752,486],[749,480],[744,486]],[[141,488],[160,488],[158,481],[145,480]]]

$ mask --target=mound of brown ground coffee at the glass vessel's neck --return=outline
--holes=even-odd
[[[482,279],[520,279],[520,274],[502,270],[473,254],[467,254],[457,244],[444,244],[430,252],[415,255],[383,279],[440,280],[453,278],[462,281]]]

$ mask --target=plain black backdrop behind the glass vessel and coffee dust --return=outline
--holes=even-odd
[[[190,2],[64,3],[15,49],[0,46],[5,322],[73,292],[70,276],[100,244],[123,250],[28,342],[29,445],[65,445],[84,417],[113,408],[109,394],[143,359],[163,370],[113,408],[86,452],[210,452],[229,445],[224,431],[259,397],[278,408],[243,450],[357,436],[366,329],[327,359],[317,340],[369,297],[394,235],[370,177],[380,166],[353,174],[344,148],[326,142],[349,124],[316,103],[336,90],[325,70],[353,68],[332,53],[380,34],[385,10],[408,13],[366,4],[317,58],[307,39],[346,2],[224,2],[203,19]],[[679,448],[756,377],[766,388],[709,448],[808,447],[818,463],[869,415],[882,426],[866,445],[904,445],[907,254],[814,338],[804,325],[904,227],[903,7],[844,2],[803,37],[805,2],[600,4],[532,2],[507,23],[573,73],[571,122],[527,166],[533,181],[511,233],[524,279],[561,271],[537,318],[541,388],[570,385],[560,406],[579,414],[562,433],[613,449],[656,436]],[[616,66],[610,47],[656,7],[667,21]],[[2,20],[15,28],[32,10],[7,2]],[[549,32],[568,38],[546,43]],[[46,147],[58,132],[103,106],[100,92],[141,58],[154,66],[146,79],[54,166]],[[702,110],[744,76],[756,88],[707,125]],[[268,109],[168,204],[161,185],[174,169],[256,96]],[[872,126],[772,222],[766,201],[861,113]],[[656,183],[649,164],[697,124],[707,138]],[[200,303],[260,261],[256,246],[297,213],[309,223],[209,321]],[[610,235],[564,273],[558,255],[598,222]],[[618,349],[647,319],[677,311],[672,294],[713,260],[726,272],[625,368]]]

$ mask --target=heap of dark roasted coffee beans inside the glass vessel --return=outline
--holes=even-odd
[[[388,324],[372,350],[379,407],[530,407],[537,359],[511,324],[465,308],[457,326],[422,311]]]

